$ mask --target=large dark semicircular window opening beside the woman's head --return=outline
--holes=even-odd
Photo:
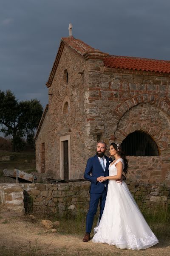
[[[122,149],[127,156],[159,156],[156,142],[142,131],[129,134],[122,142]]]

